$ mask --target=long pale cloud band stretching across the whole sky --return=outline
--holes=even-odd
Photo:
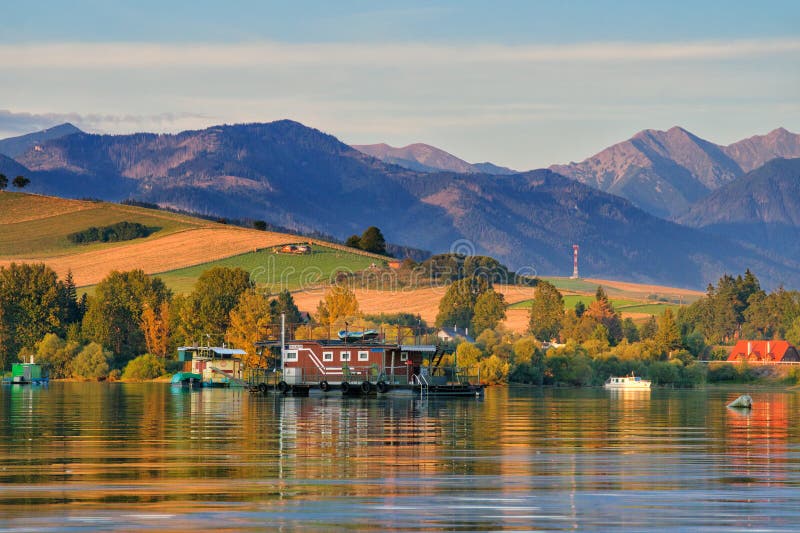
[[[48,43],[0,45],[0,68],[430,66],[715,60],[800,53],[800,39],[574,45]]]

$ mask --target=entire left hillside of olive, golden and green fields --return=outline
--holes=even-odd
[[[90,245],[76,245],[67,238],[70,233],[91,226],[121,221],[138,222],[156,231],[143,239]],[[274,267],[278,276],[287,277],[292,288],[318,281],[336,267],[361,270],[379,261],[366,253],[335,251],[336,245],[326,248],[325,253],[317,249],[311,256],[279,256],[277,262],[270,262],[266,259],[269,254],[259,252],[305,240],[297,235],[256,231],[140,207],[0,193],[0,266],[43,262],[61,278],[71,271],[75,283],[89,288],[88,292],[110,271],[135,268],[148,274],[168,273],[165,277],[170,277],[177,290],[183,292],[204,268],[233,257],[236,258],[229,264],[241,264],[248,270]],[[290,273],[291,268],[295,272]]]

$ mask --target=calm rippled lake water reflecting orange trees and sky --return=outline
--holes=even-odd
[[[750,392],[752,412],[725,404]],[[0,529],[800,530],[800,391],[0,389]]]

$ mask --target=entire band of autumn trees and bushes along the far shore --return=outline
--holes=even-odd
[[[434,264],[426,267],[430,274],[444,275]],[[455,279],[439,302],[436,325],[476,336],[450,345],[446,362],[485,383],[590,386],[630,373],[676,387],[800,378],[800,371],[775,375],[715,362],[726,358],[726,343],[744,336],[800,342],[800,293],[767,293],[749,271],[724,276],[677,313],[667,308],[638,322],[622,318],[600,287],[590,301],[576,300],[565,311],[560,291],[538,280],[527,331],[514,333],[502,325],[506,304],[494,279],[481,269],[466,276],[464,264],[447,274]],[[158,276],[114,271],[90,297],[78,298],[70,275],[60,280],[44,265],[12,264],[0,268],[0,363],[6,368],[33,356],[53,378],[153,379],[177,369],[178,346],[227,343],[247,352],[245,364],[260,366],[265,361],[254,342],[282,313],[290,324],[303,318],[288,291],[269,294],[238,267],[207,269],[181,295]],[[419,315],[362,314],[346,285],[329,287],[295,331],[327,338],[347,327],[379,328],[398,339],[434,331]]]

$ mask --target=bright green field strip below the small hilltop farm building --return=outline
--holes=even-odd
[[[336,272],[357,272],[378,262],[360,254],[314,245],[308,255],[261,250],[156,275],[180,294],[191,292],[197,278],[209,268],[240,267],[248,271],[259,286],[266,286],[270,292],[276,293],[282,289],[294,291],[317,286],[331,280]]]

